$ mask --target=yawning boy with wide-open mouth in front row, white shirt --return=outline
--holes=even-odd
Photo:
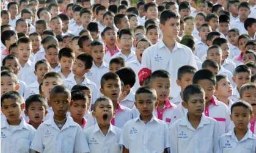
[[[122,146],[119,141],[122,130],[111,124],[115,115],[112,101],[105,96],[98,98],[94,103],[92,115],[97,123],[84,130],[90,152],[121,153]]]

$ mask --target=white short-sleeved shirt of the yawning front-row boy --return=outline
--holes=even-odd
[[[98,124],[84,130],[90,153],[121,153],[122,146],[119,144],[122,130],[109,125],[108,133],[105,136]]]

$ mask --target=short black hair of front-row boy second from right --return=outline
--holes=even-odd
[[[188,85],[183,91],[183,101],[188,102],[189,97],[194,94],[203,94],[205,96],[205,91],[199,85]]]

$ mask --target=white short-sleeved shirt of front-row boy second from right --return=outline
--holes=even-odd
[[[219,126],[216,120],[202,113],[199,126],[194,129],[188,116],[185,116],[170,127],[170,152],[216,153],[218,138]]]

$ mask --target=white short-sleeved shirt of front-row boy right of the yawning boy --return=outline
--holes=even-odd
[[[120,144],[129,152],[164,152],[169,148],[169,129],[154,115],[145,124],[140,117],[131,119],[123,126]]]

